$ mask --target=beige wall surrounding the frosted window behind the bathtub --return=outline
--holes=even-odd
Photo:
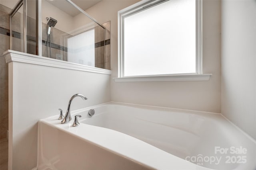
[[[112,78],[118,76],[117,12],[137,1],[102,1],[86,12],[100,23],[111,21]],[[206,82],[114,82],[111,100],[220,113],[220,1],[203,0],[203,73]]]

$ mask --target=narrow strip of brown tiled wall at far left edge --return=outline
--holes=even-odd
[[[8,130],[8,64],[2,53],[10,49],[9,13],[11,9],[0,4],[0,139],[7,137]]]

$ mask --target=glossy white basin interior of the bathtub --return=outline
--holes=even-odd
[[[166,111],[154,107],[134,109],[116,104],[96,107],[95,110],[95,115],[86,117],[80,123],[125,133],[182,159],[192,156],[198,158],[198,155],[221,158],[219,163],[218,160],[193,162],[206,168],[225,170],[255,168],[255,163],[252,163],[256,161],[255,143],[245,138],[220,114],[184,110]],[[215,153],[215,147],[231,146],[247,148],[247,164],[227,164],[225,156],[234,155]]]

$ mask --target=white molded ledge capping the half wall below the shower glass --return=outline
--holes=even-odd
[[[5,51],[3,53],[3,56],[5,57],[6,63],[10,63],[14,61],[14,62],[20,62],[20,63],[36,64],[36,65],[42,65],[42,66],[50,66],[50,67],[64,68],[64,69],[70,69],[70,70],[79,70],[79,71],[85,71],[85,72],[95,72],[95,73],[101,73],[101,74],[112,73],[111,70],[106,70],[103,68],[86,66],[83,64],[76,64],[76,63],[71,63],[68,61],[62,61],[57,59],[50,59],[47,57],[22,53],[22,52],[13,51],[13,50]]]

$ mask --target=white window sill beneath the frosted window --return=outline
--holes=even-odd
[[[115,82],[208,81],[212,74],[180,74],[113,78]]]

